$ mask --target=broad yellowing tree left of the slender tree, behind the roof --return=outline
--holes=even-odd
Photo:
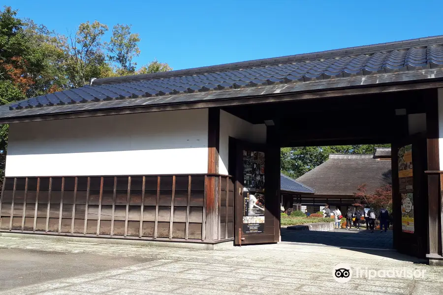
[[[100,78],[106,57],[101,38],[108,26],[97,21],[80,24],[74,36],[58,35],[58,46],[65,54],[66,73],[73,87],[81,87],[91,78]]]

